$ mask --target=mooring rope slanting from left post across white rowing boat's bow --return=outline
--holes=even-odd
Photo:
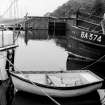
[[[3,56],[3,55],[2,55]],[[3,56],[4,57],[4,56]],[[7,59],[7,61],[15,68],[15,69],[17,69],[15,66],[14,66],[14,64],[8,59],[8,58],[6,58]],[[20,72],[21,74],[23,74],[21,71],[19,71],[18,70],[18,72]],[[41,90],[41,92],[43,93],[43,94],[45,94],[49,99],[51,99],[56,105],[61,105],[58,101],[56,101],[53,97],[51,97],[47,92],[45,92],[43,89],[41,89],[39,86],[37,86],[34,82],[32,82],[31,80],[29,80],[34,86],[36,86],[38,89],[40,89]]]

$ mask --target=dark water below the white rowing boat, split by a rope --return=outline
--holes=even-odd
[[[30,97],[30,98],[29,98]],[[60,105],[101,105],[98,93],[92,92],[75,98],[54,98]],[[18,92],[14,105],[56,105],[48,97],[37,96],[26,92]]]

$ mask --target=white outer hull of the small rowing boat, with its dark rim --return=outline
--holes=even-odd
[[[87,84],[84,86],[77,86],[77,87],[65,87],[65,88],[54,88],[54,87],[48,87],[43,85],[34,84],[26,79],[23,79],[19,76],[16,76],[14,73],[11,73],[12,81],[14,83],[14,86],[18,90],[26,91],[29,93],[37,94],[45,96],[46,94],[52,96],[52,97],[74,97],[74,96],[80,96],[83,94],[90,93],[102,86],[102,81],[92,84]]]

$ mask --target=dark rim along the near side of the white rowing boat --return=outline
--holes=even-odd
[[[74,70],[75,71],[75,70]],[[76,71],[78,71],[78,70],[76,70]],[[82,70],[80,70],[80,72],[81,72]],[[85,70],[84,70],[85,71]],[[86,70],[86,71],[88,71],[88,70]],[[58,71],[59,72],[59,71]],[[60,71],[60,72],[62,72],[62,71]],[[59,72],[59,73],[60,73]],[[90,72],[90,71],[89,71]],[[19,76],[17,76],[17,75],[15,75],[15,73],[16,72],[10,72],[10,75],[12,75],[12,76],[14,76],[15,78],[17,78],[17,79],[20,79],[20,80],[22,80],[22,81],[24,81],[24,82],[27,82],[27,83],[29,83],[29,84],[32,84],[32,85],[35,85],[35,86],[37,86],[37,87],[40,87],[40,88],[48,88],[48,89],[56,89],[56,90],[75,90],[75,89],[80,89],[80,88],[87,88],[87,87],[89,87],[89,86],[92,86],[92,85],[96,85],[96,84],[100,84],[100,83],[102,83],[104,80],[102,79],[102,78],[100,78],[99,76],[97,76],[97,75],[95,75],[94,73],[92,73],[92,75],[95,75],[96,77],[98,77],[98,79],[100,79],[99,81],[97,81],[97,82],[93,82],[93,83],[88,83],[88,84],[83,84],[83,85],[79,85],[79,86],[68,86],[68,87],[61,87],[61,86],[49,86],[49,85],[44,85],[44,84],[41,84],[41,83],[37,83],[37,82],[32,82],[32,81],[30,81],[30,80],[28,80],[28,79],[25,79],[25,78],[22,78],[22,77],[19,77]],[[29,73],[29,72],[28,72]],[[37,71],[37,73],[38,73],[38,71]]]

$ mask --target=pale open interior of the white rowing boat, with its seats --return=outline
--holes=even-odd
[[[54,87],[73,87],[102,81],[100,77],[89,72],[64,73],[15,73],[19,78]]]

